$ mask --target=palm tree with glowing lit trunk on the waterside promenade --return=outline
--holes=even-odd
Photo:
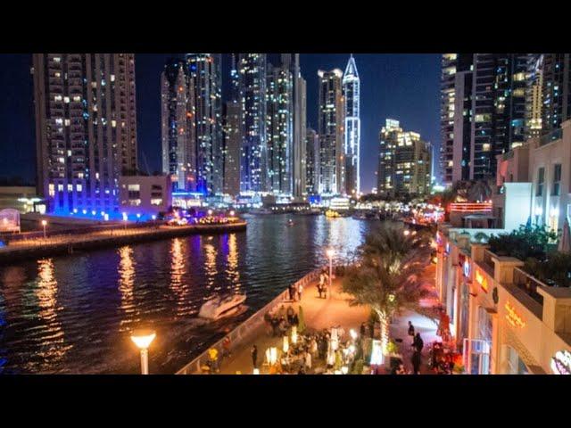
[[[400,223],[385,222],[367,235],[357,257],[358,262],[345,271],[343,292],[352,295],[350,305],[368,305],[377,313],[386,354],[389,320],[401,309],[434,317],[433,310],[419,305],[430,294],[419,280],[430,260],[430,240]]]

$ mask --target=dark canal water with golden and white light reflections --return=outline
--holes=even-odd
[[[247,231],[193,235],[0,267],[0,374],[136,374],[129,333],[152,326],[151,373],[171,374],[288,284],[349,257],[372,223],[246,216]],[[292,219],[294,224],[290,225]],[[247,294],[237,317],[203,324],[204,300]]]

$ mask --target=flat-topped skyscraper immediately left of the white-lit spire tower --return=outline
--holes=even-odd
[[[318,71],[319,170],[318,193],[344,193],[343,93],[339,69]]]

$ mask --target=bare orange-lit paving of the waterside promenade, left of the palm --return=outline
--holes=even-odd
[[[317,291],[317,283],[310,284],[305,287],[302,292],[301,305],[303,308],[303,317],[308,331],[319,331],[324,328],[341,325],[346,334],[349,334],[351,328],[359,331],[360,325],[368,320],[370,309],[368,307],[350,307],[348,303],[349,296],[340,292],[340,279],[333,282],[333,293],[330,299],[319,299]],[[285,303],[285,309],[288,305],[292,305],[299,312],[300,302]],[[232,349],[232,356],[221,362],[220,374],[252,374],[252,346],[258,347],[258,366],[261,373],[264,368],[261,366],[265,358],[265,351],[272,346],[278,349],[282,348],[282,339],[279,337],[270,337],[265,329],[265,325],[261,325],[252,332],[251,339],[245,341],[237,349]]]

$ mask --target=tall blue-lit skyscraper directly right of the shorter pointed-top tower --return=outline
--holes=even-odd
[[[194,92],[196,191],[223,190],[222,71],[219,53],[186,53]]]

